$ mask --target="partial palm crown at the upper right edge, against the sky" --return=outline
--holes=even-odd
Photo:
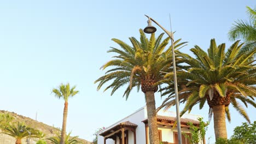
[[[256,9],[247,7],[248,21],[238,20],[229,31],[230,40],[242,39],[245,47],[253,49],[256,46]]]

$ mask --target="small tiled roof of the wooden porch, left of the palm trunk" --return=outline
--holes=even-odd
[[[127,128],[127,127],[130,127],[130,128],[137,128],[137,124],[134,124],[134,123],[131,123],[130,121],[126,121],[126,122],[122,122],[122,123],[119,123],[119,124],[117,124],[117,125],[115,125],[114,127],[112,127],[112,128],[110,128],[110,129],[108,129],[108,130],[106,130],[106,131],[104,131],[103,133],[101,133],[100,135],[101,136],[106,136],[106,135],[108,135],[108,134],[110,134],[110,133],[113,133],[114,131],[117,131],[117,130],[119,130],[119,129],[121,129],[121,128]]]

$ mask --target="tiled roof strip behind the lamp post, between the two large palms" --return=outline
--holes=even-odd
[[[157,115],[156,117],[157,117],[158,122],[167,121],[167,122],[170,122],[170,123],[174,123],[176,121],[176,117],[168,117],[168,116],[160,116],[160,115]],[[148,119],[145,119],[142,122],[143,123],[148,123]],[[181,118],[181,124],[187,125],[188,122],[191,122],[194,125],[199,125],[199,121],[195,121],[194,119]]]

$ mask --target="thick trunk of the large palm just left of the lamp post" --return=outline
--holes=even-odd
[[[146,92],[146,104],[148,113],[149,143],[159,144],[158,125],[156,124],[155,94],[153,91]]]

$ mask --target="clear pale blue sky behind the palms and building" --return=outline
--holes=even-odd
[[[129,43],[139,38],[149,15],[166,29],[176,31],[174,39],[188,41],[183,52],[194,45],[207,50],[210,40],[232,41],[228,31],[234,21],[247,19],[246,6],[255,1],[0,1],[0,110],[24,115],[54,127],[61,127],[64,101],[51,90],[60,83],[77,86],[79,94],[69,99],[67,131],[92,141],[97,128],[108,127],[146,105],[144,94],[124,89],[110,96],[97,91],[94,81],[104,72],[100,67],[112,59],[111,39]],[[154,24],[153,24],[154,25]],[[156,25],[155,25],[156,26]],[[156,35],[163,31],[159,28]],[[149,37],[150,35],[148,35]],[[165,34],[164,37],[167,37]],[[192,55],[192,54],[191,54]],[[156,106],[165,98],[156,93]],[[184,105],[181,105],[181,109]],[[175,111],[175,107],[171,108]],[[246,109],[256,121],[255,108]],[[191,113],[208,121],[208,106]],[[228,136],[246,120],[231,108]],[[213,121],[206,139],[214,141]]]

